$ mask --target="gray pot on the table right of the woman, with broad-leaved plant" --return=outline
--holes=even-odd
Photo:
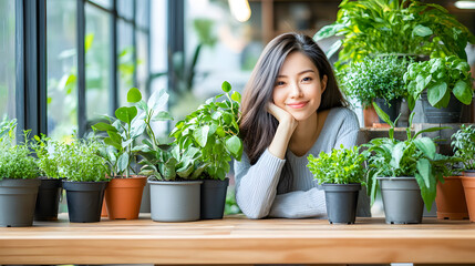
[[[386,224],[420,224],[424,202],[415,177],[376,177]]]

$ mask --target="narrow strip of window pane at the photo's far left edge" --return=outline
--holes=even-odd
[[[16,117],[14,0],[0,1],[0,121]]]

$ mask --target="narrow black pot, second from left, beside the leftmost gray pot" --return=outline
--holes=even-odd
[[[38,190],[34,221],[56,221],[62,181],[42,176],[39,178],[41,180],[41,185]]]

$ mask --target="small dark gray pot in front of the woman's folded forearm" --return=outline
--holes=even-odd
[[[361,184],[323,184],[328,222],[354,224]]]

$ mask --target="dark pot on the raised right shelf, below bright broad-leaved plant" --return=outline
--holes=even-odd
[[[427,123],[459,123],[462,119],[462,102],[451,95],[446,108],[436,109],[428,103],[427,93],[421,94],[422,109]]]

